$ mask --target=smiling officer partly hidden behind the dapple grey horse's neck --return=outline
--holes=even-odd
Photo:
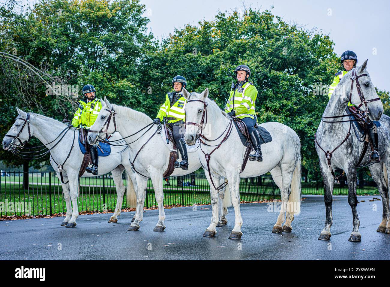
[[[333,92],[336,89],[337,84],[339,84],[341,78],[351,71],[353,68],[356,68],[356,64],[358,63],[358,57],[356,56],[356,53],[353,51],[345,51],[341,54],[340,62],[342,67],[344,68],[343,71],[339,71],[335,73],[335,77],[333,78],[333,83],[329,87],[329,99],[332,96]],[[352,111],[357,111],[355,105],[353,103],[348,102],[348,107]],[[351,113],[352,111],[349,111],[347,107],[347,113]],[[376,126],[375,124],[369,119],[367,122],[367,133],[370,137],[371,143],[374,146],[374,150],[370,154],[370,162],[379,162],[379,153],[378,153],[378,133],[376,132]]]

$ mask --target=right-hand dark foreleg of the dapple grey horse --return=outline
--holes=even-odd
[[[359,232],[360,221],[356,206],[358,205],[358,198],[356,197],[356,168],[350,168],[347,171],[348,181],[348,203],[352,209],[352,224],[353,229],[348,241],[361,241],[362,235]]]

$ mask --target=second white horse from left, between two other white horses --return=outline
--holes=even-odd
[[[153,122],[152,119],[142,112],[112,104],[106,98],[104,100],[105,102],[102,102],[103,108],[100,110],[94,125],[88,133],[88,141],[90,144],[93,144],[99,137],[105,137],[107,134],[112,134],[116,130],[124,136],[124,140],[129,144],[130,160],[133,162],[133,168],[135,170],[135,180],[133,180],[133,183],[137,193],[137,209],[135,219],[128,230],[135,231],[140,228],[140,222],[143,218],[147,181],[150,177],[159,210],[158,223],[153,231],[163,231],[165,230],[163,173],[168,168],[172,144],[168,146],[165,140],[165,134],[163,134],[163,131],[161,131],[161,134],[158,132],[157,125],[152,125],[150,128],[146,128],[142,132],[135,134],[147,125],[150,125]],[[116,125],[113,124],[114,119]],[[103,129],[105,130],[104,133]],[[188,152],[188,163],[188,170],[176,168],[171,176],[183,176],[199,169],[201,165],[197,152]],[[220,201],[222,200],[223,197],[220,198]],[[223,210],[223,215],[219,218],[221,225],[227,223],[225,216],[229,203],[230,198],[227,197],[223,200],[224,206],[220,204],[220,208]]]

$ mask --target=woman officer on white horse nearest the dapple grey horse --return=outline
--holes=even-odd
[[[241,119],[245,123],[246,128],[248,128],[250,139],[252,140],[253,148],[255,150],[253,155],[249,155],[249,160],[262,161],[260,136],[254,128],[257,123],[255,113],[257,89],[252,82],[248,81],[248,78],[251,75],[248,66],[239,65],[236,70],[234,70],[234,73],[236,74],[237,81],[236,83],[232,82],[230,96],[225,106],[225,112],[231,117],[235,116],[236,118]]]

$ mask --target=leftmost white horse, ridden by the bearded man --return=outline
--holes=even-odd
[[[58,178],[61,180],[58,164],[63,165],[62,173],[65,183],[62,183],[62,191],[66,201],[66,217],[61,223],[61,226],[74,227],[78,217],[78,173],[83,160],[83,154],[78,147],[78,130],[76,128],[67,129],[67,125],[53,118],[46,116],[26,113],[16,108],[18,116],[15,123],[3,139],[4,150],[13,151],[19,145],[30,141],[31,137],[36,137],[46,148],[51,149],[50,164],[57,172]],[[27,122],[28,121],[28,122]],[[65,131],[64,131],[65,130]],[[60,137],[58,135],[64,131]],[[63,136],[63,137],[62,137]],[[119,133],[115,133],[111,140],[121,139]],[[60,141],[60,142],[58,142]],[[73,146],[73,148],[71,148]],[[122,201],[125,192],[125,187],[122,180],[124,169],[127,171],[127,194],[134,194],[133,187],[133,171],[129,162],[129,150],[123,152],[124,147],[115,147],[111,149],[111,154],[107,157],[99,157],[99,173],[104,175],[111,172],[113,180],[117,188],[117,205],[114,214],[110,217],[109,223],[117,222],[117,216],[121,213]],[[57,163],[56,163],[57,162]],[[64,163],[65,162],[65,163]],[[82,176],[94,176],[91,173],[83,173]],[[135,206],[135,198],[128,196],[128,204],[130,207]],[[73,204],[73,210],[72,210]]]

